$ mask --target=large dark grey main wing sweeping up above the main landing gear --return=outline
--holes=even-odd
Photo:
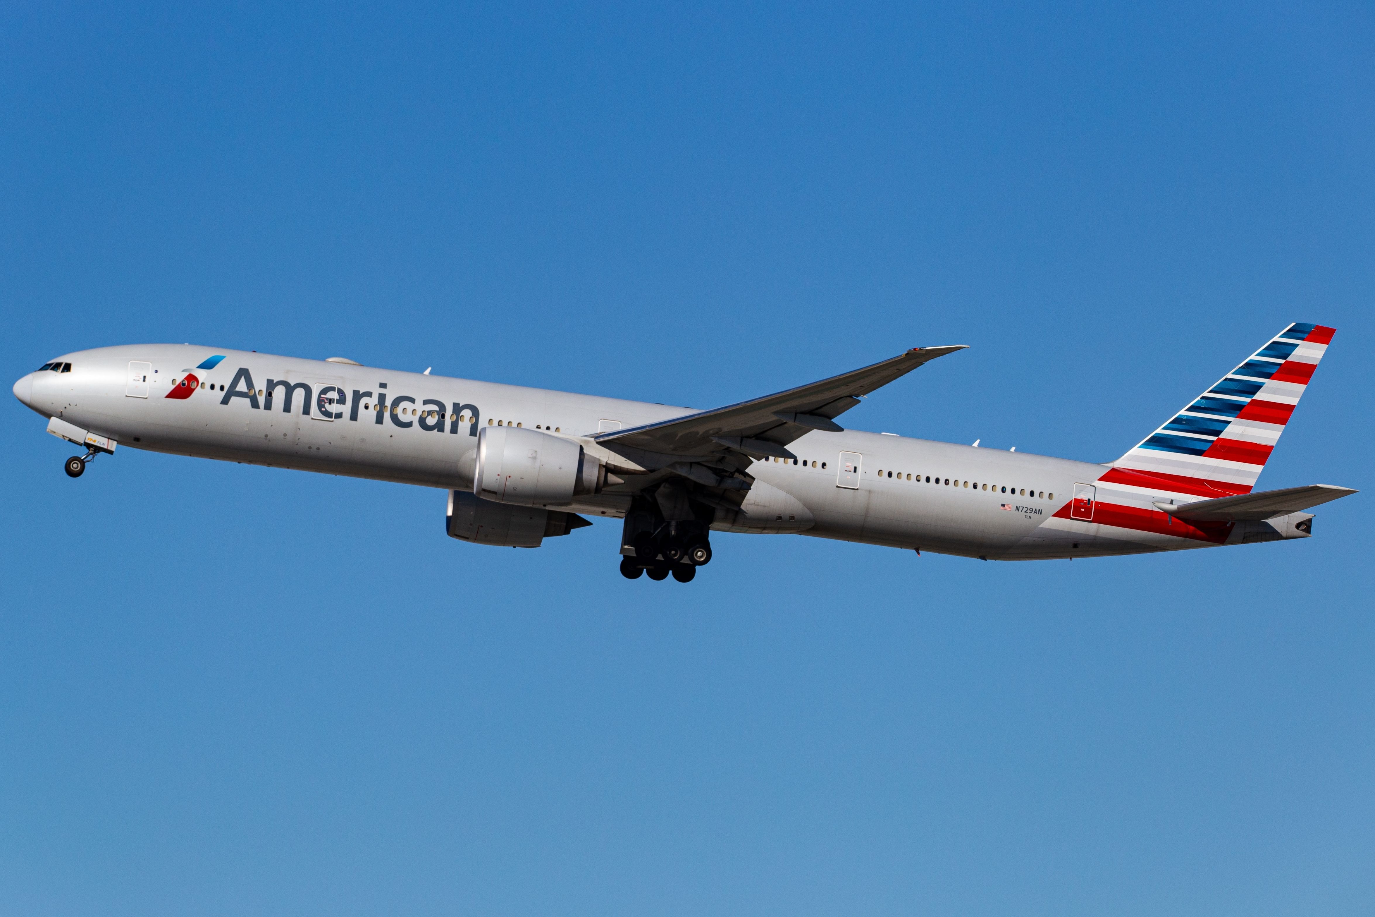
[[[710,459],[730,451],[747,456],[793,458],[786,445],[810,430],[839,432],[835,418],[868,395],[923,363],[962,351],[965,345],[916,346],[891,360],[833,375],[777,395],[712,411],[613,430],[595,437],[615,451],[632,450],[671,458]]]

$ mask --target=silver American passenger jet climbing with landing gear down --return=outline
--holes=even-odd
[[[711,411],[190,344],[67,353],[14,393],[85,447],[72,477],[125,445],[433,487],[448,535],[509,547],[613,517],[624,576],[686,583],[714,531],[984,561],[1309,538],[1302,510],[1356,491],[1251,488],[1332,333],[1290,324],[1106,465],[836,422],[962,345]]]

